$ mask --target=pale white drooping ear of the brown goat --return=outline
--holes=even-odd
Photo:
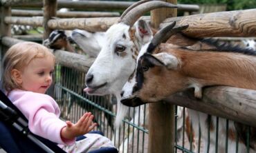
[[[158,63],[162,63],[165,65],[167,69],[176,70],[179,66],[179,59],[172,54],[168,54],[167,52],[161,52],[158,54],[153,54],[156,59],[158,59]]]

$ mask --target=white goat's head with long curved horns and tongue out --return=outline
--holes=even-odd
[[[163,1],[144,2],[139,1],[134,8],[128,8],[120,17],[120,22],[107,30],[106,42],[86,74],[87,88],[84,92],[87,94],[119,94],[135,70],[140,48],[152,38],[152,32],[145,21],[140,20],[135,26],[134,23],[144,12],[154,8],[176,8]]]

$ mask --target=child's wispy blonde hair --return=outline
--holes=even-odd
[[[15,79],[12,77],[12,70],[17,69],[22,71],[30,61],[35,58],[43,57],[51,57],[53,59],[53,63],[55,63],[55,56],[44,45],[33,42],[21,42],[12,45],[3,57],[1,88],[6,90],[6,92],[20,88],[20,85],[17,84]]]

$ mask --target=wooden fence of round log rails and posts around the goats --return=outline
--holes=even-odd
[[[176,3],[176,1],[172,1]],[[44,0],[43,2],[28,1],[28,0],[12,0],[12,1],[1,1],[1,48],[3,46],[10,47],[11,45],[19,42],[18,39],[11,38],[10,35],[10,24],[21,24],[29,26],[43,26],[44,27],[44,39],[48,37],[48,34],[53,29],[64,29],[72,30],[74,28],[80,28],[89,31],[105,31],[109,26],[113,25],[118,21],[118,17],[97,17],[97,18],[80,18],[80,19],[53,19],[57,14],[57,7],[64,8],[104,8],[104,9],[125,9],[131,5],[132,2],[111,2],[111,1],[80,1],[80,2],[69,2],[69,1],[56,1],[56,0]],[[11,7],[29,7],[29,8],[44,8],[44,13],[39,12],[44,17],[12,17]],[[182,6],[182,5],[180,5]],[[196,6],[183,5],[183,10],[196,10]],[[152,12],[154,14],[154,12]],[[156,12],[157,14],[157,12]],[[185,35],[190,37],[255,37],[256,36],[256,9],[251,10],[237,10],[229,12],[214,12],[208,14],[195,14],[187,17],[174,17],[175,12],[170,13],[172,17],[164,19],[163,22],[154,21],[156,25],[160,22],[160,28],[167,26],[172,21],[177,21],[178,25],[189,24],[190,27],[184,31]],[[60,14],[59,14],[60,15]],[[159,18],[161,16],[158,16]],[[149,20],[149,17],[143,17],[145,20]],[[54,52],[57,57],[57,62],[62,65],[66,65],[70,68],[87,72],[89,67],[93,63],[94,59],[89,59],[81,54],[75,54],[71,52],[65,52],[63,50],[57,50]],[[68,59],[68,60],[67,60]],[[73,60],[75,59],[75,60]],[[233,121],[245,123],[247,125],[256,126],[254,119],[256,119],[256,92],[254,90],[245,90],[239,88],[227,88],[227,87],[212,87],[207,88],[203,92],[203,99],[196,100],[190,96],[190,92],[182,92],[170,96],[169,101],[172,104],[182,105],[186,108],[199,110],[215,116],[221,116]],[[233,96],[236,94],[236,96]],[[232,96],[232,103],[226,101]],[[154,105],[154,107],[157,107]],[[163,110],[163,106],[159,107]],[[165,114],[168,110],[173,110],[171,106],[165,110]],[[246,110],[246,113],[244,113]],[[250,110],[250,111],[248,111]],[[158,111],[159,112],[159,111]],[[163,117],[163,114],[154,112],[155,116],[159,115]],[[160,111],[161,112],[161,111]],[[152,113],[152,112],[151,112]],[[158,113],[158,114],[156,114]],[[149,112],[150,114],[150,112]],[[166,118],[166,117],[165,117]],[[153,118],[152,118],[153,119]],[[172,117],[170,117],[172,119]],[[164,120],[173,123],[172,120]],[[159,121],[158,121],[159,122]],[[161,122],[161,121],[160,121]],[[163,122],[163,120],[162,120]],[[165,123],[162,123],[165,124]],[[171,124],[170,126],[173,126]],[[149,144],[151,148],[149,152],[156,152],[152,146],[157,145],[157,152],[165,152],[170,150],[170,142],[172,143],[174,134],[166,137],[165,130],[159,130],[159,127],[151,125],[150,130],[157,130],[158,134],[149,136]],[[172,132],[171,132],[172,133]],[[165,136],[165,137],[163,137]],[[155,140],[161,143],[152,143]],[[173,143],[171,144],[173,146]]]

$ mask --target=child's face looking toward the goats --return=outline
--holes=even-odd
[[[33,59],[21,72],[21,87],[27,91],[44,94],[53,82],[54,65],[51,57]]]

